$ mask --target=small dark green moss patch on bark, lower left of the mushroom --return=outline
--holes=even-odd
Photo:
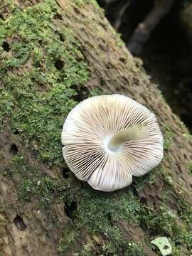
[[[31,201],[36,198],[41,208],[48,208],[53,201],[68,196],[69,181],[42,175],[41,170],[28,165],[21,154],[14,156],[11,169],[8,173],[5,172],[4,176],[17,181],[18,198],[21,201]]]

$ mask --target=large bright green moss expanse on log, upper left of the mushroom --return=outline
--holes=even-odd
[[[77,104],[72,87],[88,78],[78,41],[67,28],[51,22],[58,11],[55,1],[45,1],[17,11],[0,26],[0,46],[11,37],[11,53],[0,48],[0,75],[6,85],[0,89],[1,127],[6,114],[12,130],[50,165],[63,163],[60,132]]]

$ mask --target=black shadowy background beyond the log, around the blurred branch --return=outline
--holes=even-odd
[[[119,21],[117,32],[126,44],[154,6],[153,0],[97,2],[105,9],[105,15],[112,26]],[[149,40],[144,43],[141,53],[133,55],[142,59],[146,72],[159,85],[166,102],[192,132],[192,34],[190,38],[182,18],[183,9],[188,4],[190,2],[174,1],[170,11],[161,18]],[[119,12],[124,6],[127,8],[119,18]]]

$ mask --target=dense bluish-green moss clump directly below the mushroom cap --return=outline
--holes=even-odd
[[[127,195],[117,193],[110,196],[104,193],[90,193],[85,191],[81,196],[75,225],[78,228],[86,227],[92,233],[106,233],[110,223],[117,220],[128,220],[137,223],[141,208],[139,201],[131,192]]]

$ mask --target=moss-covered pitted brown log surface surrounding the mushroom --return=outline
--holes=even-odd
[[[122,93],[156,114],[164,160],[131,186],[93,191],[60,132],[81,100]],[[0,3],[0,255],[191,255],[191,136],[95,1]]]

